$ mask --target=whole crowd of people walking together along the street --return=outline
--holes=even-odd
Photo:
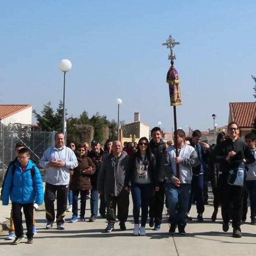
[[[44,191],[39,169],[29,159],[29,150],[17,144],[17,157],[7,169],[1,190],[3,205],[9,204],[9,198],[12,202],[11,229],[7,239],[15,239],[13,244],[24,239],[23,208],[27,243],[33,243],[36,233],[33,208],[41,205],[43,199],[46,229],[51,229],[56,222],[57,229],[64,230],[66,211],[72,212],[70,223],[85,221],[88,199],[88,221],[96,221],[99,210],[101,218],[108,222],[105,232],[114,230],[116,220],[119,229],[126,230],[130,192],[134,236],[146,236],[148,217],[149,226],[161,230],[164,204],[169,212],[169,233],[173,235],[177,229],[180,235],[185,235],[186,221],[192,220],[189,211],[193,202],[197,220],[204,221],[206,168],[210,172],[214,195],[212,221],[216,220],[221,206],[223,231],[229,230],[232,221],[233,237],[240,238],[249,196],[250,223],[256,224],[255,134],[247,134],[244,143],[239,139],[239,127],[235,122],[230,122],[227,134],[218,134],[216,145],[202,142],[199,130],[193,131],[192,137],[186,139],[185,132],[178,129],[174,133],[174,143],[169,145],[163,142],[161,134],[161,129],[154,127],[150,141],[142,137],[138,143],[128,142],[122,146],[118,140],[107,140],[102,147],[94,139],[89,147],[89,143],[76,145],[73,141],[66,146],[64,134],[58,132],[55,145],[44,151],[39,163],[46,170]]]

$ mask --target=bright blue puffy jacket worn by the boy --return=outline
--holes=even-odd
[[[12,174],[12,166],[3,187],[3,205],[9,204],[9,197],[12,202],[17,204],[43,203],[44,186],[39,169],[34,162],[29,160],[26,169],[22,172],[20,163],[16,161],[16,169]],[[33,178],[31,176],[32,166],[35,166]]]

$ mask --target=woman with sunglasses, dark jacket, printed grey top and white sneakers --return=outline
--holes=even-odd
[[[158,191],[156,162],[149,148],[146,137],[142,137],[138,143],[138,151],[134,152],[129,160],[128,172],[125,177],[125,189],[131,190],[133,201],[134,236],[145,236],[145,225],[148,219],[148,205],[152,195],[152,189]],[[129,183],[131,182],[131,189]],[[139,217],[141,208],[141,225]]]

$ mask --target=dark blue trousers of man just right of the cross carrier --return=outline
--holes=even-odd
[[[201,173],[200,175],[193,175],[191,180],[191,195],[189,200],[189,207],[187,212],[190,211],[192,207],[192,202],[195,197],[196,200],[196,209],[197,213],[204,212],[204,175]]]

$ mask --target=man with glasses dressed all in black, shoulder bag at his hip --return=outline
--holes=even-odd
[[[222,229],[224,232],[229,230],[232,203],[233,237],[240,238],[242,237],[240,225],[244,187],[230,185],[227,183],[227,177],[230,170],[237,169],[241,163],[251,164],[255,161],[255,158],[247,145],[242,140],[239,140],[239,127],[236,122],[229,123],[227,134],[229,138],[215,147],[215,161],[220,163],[220,172],[222,172]]]

